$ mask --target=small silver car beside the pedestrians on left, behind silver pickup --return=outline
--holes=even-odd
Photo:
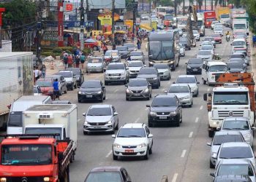
[[[86,73],[91,73],[91,72],[103,73],[105,70],[105,64],[106,63],[103,60],[103,58],[100,58],[100,57],[89,58],[86,66]]]

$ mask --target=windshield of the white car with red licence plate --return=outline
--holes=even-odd
[[[146,133],[143,128],[121,128],[117,137],[120,138],[143,138]]]

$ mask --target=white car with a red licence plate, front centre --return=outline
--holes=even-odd
[[[152,154],[153,135],[144,123],[128,123],[122,126],[113,143],[113,160],[118,157],[143,157]]]

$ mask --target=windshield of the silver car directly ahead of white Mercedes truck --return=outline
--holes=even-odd
[[[228,120],[223,122],[222,130],[249,130],[249,124],[246,120]]]

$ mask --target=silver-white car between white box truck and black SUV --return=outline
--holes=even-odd
[[[118,130],[118,113],[112,105],[92,105],[83,113],[83,135],[90,132],[112,132]]]

